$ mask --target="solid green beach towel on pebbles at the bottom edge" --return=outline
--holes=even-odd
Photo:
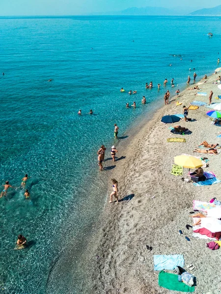
[[[163,288],[173,291],[194,292],[195,290],[194,287],[189,287],[183,282],[179,282],[177,274],[168,273],[163,270],[159,273],[158,284]]]

